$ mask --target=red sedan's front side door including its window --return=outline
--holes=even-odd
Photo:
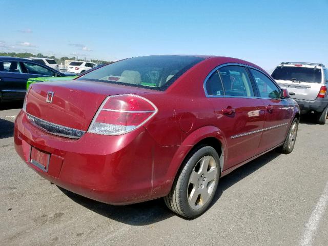
[[[265,119],[260,152],[267,151],[283,142],[289,129],[291,107],[288,99],[280,98],[280,88],[263,72],[250,68],[265,107]]]

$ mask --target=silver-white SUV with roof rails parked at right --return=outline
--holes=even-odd
[[[297,101],[301,113],[314,112],[325,124],[328,112],[328,70],[319,63],[281,63],[271,76]]]

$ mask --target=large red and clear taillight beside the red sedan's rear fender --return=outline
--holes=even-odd
[[[156,113],[156,106],[144,97],[133,94],[108,96],[94,116],[88,132],[125,134],[145,124]]]

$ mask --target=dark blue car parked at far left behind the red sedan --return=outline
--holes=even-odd
[[[23,100],[29,78],[70,75],[74,74],[58,72],[33,60],[0,56],[0,102]]]

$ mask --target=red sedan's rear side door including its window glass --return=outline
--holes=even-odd
[[[258,154],[264,125],[264,105],[257,97],[247,69],[220,66],[206,80],[205,89],[217,117],[216,126],[227,139],[229,169]]]

